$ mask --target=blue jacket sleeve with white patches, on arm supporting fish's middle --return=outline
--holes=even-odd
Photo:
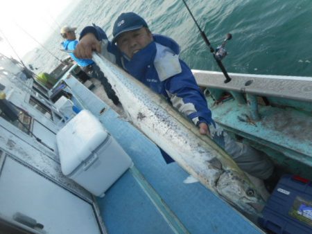
[[[213,123],[207,100],[198,87],[191,69],[180,60],[182,72],[164,81],[164,88],[173,107],[193,121],[195,125]]]

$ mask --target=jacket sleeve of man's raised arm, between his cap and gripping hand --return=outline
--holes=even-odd
[[[87,33],[92,33],[95,35],[96,39],[101,42],[101,54],[110,60],[110,62],[116,63],[116,60],[120,60],[120,52],[115,44],[112,44],[108,38],[106,33],[102,28],[93,24],[93,26],[87,26],[83,28],[80,33],[79,40],[83,38]]]

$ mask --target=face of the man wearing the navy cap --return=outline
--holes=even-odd
[[[131,59],[135,53],[153,42],[153,35],[147,28],[143,27],[121,33],[116,42],[121,52]]]

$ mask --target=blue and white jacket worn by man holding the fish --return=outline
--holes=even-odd
[[[154,41],[129,59],[115,44],[111,44],[105,32],[98,26],[87,26],[80,38],[93,33],[102,42],[102,54],[121,66],[134,78],[156,93],[162,94],[180,113],[195,125],[213,123],[207,100],[198,87],[189,66],[179,59],[180,46],[171,38],[153,35]],[[114,56],[112,56],[114,55]],[[162,151],[167,163],[173,161]]]

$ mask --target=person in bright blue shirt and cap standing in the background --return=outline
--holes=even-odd
[[[76,39],[76,31],[77,28],[70,26],[63,26],[60,30],[60,34],[62,35],[64,42],[62,42],[62,47],[66,51],[73,51],[78,44],[78,40]],[[93,60],[89,59],[81,59],[76,57],[73,53],[69,53],[71,58],[77,62],[80,68],[85,71],[90,77],[96,78],[101,81],[103,84],[104,90],[107,94],[107,97],[114,102],[114,105],[119,104],[119,98],[116,96],[116,93],[112,89],[112,86],[108,82],[107,78],[101,71],[101,69],[96,65]]]

